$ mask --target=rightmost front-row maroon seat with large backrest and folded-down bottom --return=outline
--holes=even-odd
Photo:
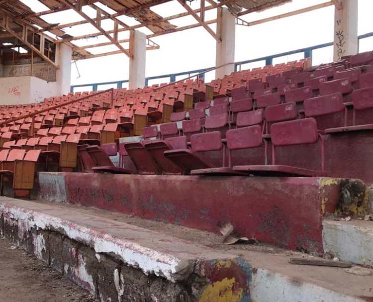
[[[279,165],[276,148],[318,143],[321,141],[321,171],[289,165]],[[318,176],[324,175],[324,139],[318,134],[316,120],[312,117],[278,122],[271,125],[272,165],[234,166],[233,170],[259,176]],[[291,159],[290,159],[291,160]]]

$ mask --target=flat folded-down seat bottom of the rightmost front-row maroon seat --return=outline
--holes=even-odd
[[[297,168],[284,165],[257,165],[257,166],[234,166],[234,171],[244,172],[254,176],[301,176],[314,177],[323,176],[321,171]]]

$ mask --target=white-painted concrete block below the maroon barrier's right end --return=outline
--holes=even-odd
[[[323,221],[323,246],[343,261],[373,266],[373,221]]]

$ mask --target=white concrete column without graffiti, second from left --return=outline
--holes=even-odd
[[[145,86],[146,35],[137,30],[130,31],[129,89]]]

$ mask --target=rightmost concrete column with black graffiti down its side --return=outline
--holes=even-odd
[[[358,0],[342,0],[334,13],[334,61],[358,53]]]

